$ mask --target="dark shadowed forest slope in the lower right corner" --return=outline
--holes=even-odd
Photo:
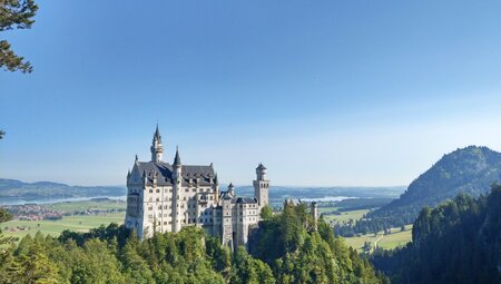
[[[372,256],[392,283],[501,283],[501,186],[422,209],[412,239]]]

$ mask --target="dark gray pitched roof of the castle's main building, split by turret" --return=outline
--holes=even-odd
[[[137,161],[132,170],[139,172],[140,175],[146,173],[148,185],[153,184],[154,175],[157,175],[157,185],[173,185],[173,165],[168,163]],[[189,179],[191,179],[191,185],[195,186],[197,178],[199,179],[198,185],[200,186],[216,184],[216,180],[214,180],[215,173],[212,166],[181,165],[181,177],[183,186],[188,186]],[[210,184],[210,178],[213,178],[213,184]]]

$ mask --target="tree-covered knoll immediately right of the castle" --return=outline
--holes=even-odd
[[[304,204],[263,221],[249,242],[254,257],[267,263],[277,283],[382,283],[371,264],[335,238],[321,218],[318,232]]]

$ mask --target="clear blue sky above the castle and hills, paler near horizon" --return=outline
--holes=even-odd
[[[125,185],[149,160],[222,183],[407,185],[469,145],[501,151],[501,1],[37,1],[1,32],[0,177]]]

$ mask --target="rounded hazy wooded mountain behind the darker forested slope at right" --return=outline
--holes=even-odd
[[[469,146],[444,155],[429,170],[411,183],[399,199],[367,215],[392,226],[414,222],[425,206],[454,198],[459,193],[479,196],[501,182],[501,153],[488,147]]]

